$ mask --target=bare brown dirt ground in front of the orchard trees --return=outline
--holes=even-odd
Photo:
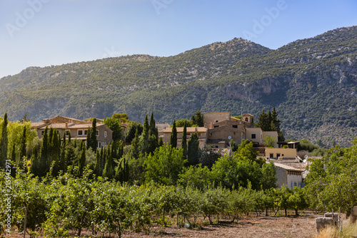
[[[151,227],[151,232],[124,232],[122,237],[264,237],[264,238],[280,238],[280,237],[314,237],[316,235],[315,218],[323,217],[321,214],[303,213],[300,216],[288,217],[264,217],[261,214],[259,217],[252,214],[248,217],[241,217],[238,222],[228,222],[222,219],[219,224],[208,225],[204,224],[201,228],[178,228],[176,224],[171,227]],[[82,236],[91,235],[90,231],[82,232]],[[6,238],[14,237],[21,238],[24,234],[14,232],[8,234]],[[26,237],[29,237],[26,234]],[[109,234],[96,234],[94,237],[109,237]],[[114,237],[112,234],[111,237]],[[117,236],[115,236],[117,237]]]

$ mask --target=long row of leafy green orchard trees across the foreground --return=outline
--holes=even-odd
[[[0,171],[0,234],[5,233],[6,218],[5,173]],[[265,212],[276,214],[278,209],[296,211],[307,206],[301,188],[288,190],[253,190],[246,188],[228,190],[224,187],[195,187],[155,185],[120,185],[96,177],[88,167],[83,175],[71,173],[58,177],[47,175],[42,180],[29,172],[18,170],[11,178],[11,226],[24,229],[24,207],[27,207],[27,224],[30,234],[41,232],[48,237],[69,237],[75,230],[80,236],[83,229],[114,233],[121,237],[126,230],[148,231],[154,225],[166,226],[170,222],[191,226],[198,217],[209,223],[219,217],[234,220],[244,214]],[[176,219],[173,217],[176,215]],[[200,218],[201,219],[201,218]]]

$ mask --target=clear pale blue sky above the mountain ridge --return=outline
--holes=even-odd
[[[173,56],[234,37],[279,48],[357,25],[356,0],[0,0],[0,78],[136,53]]]

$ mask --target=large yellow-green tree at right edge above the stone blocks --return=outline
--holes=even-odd
[[[357,138],[349,148],[336,146],[313,160],[306,175],[306,190],[316,209],[341,207],[347,215],[357,205]]]

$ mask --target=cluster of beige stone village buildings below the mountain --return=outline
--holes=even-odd
[[[254,125],[254,116],[244,114],[241,119],[234,118],[230,112],[222,113],[202,113],[203,127],[188,127],[186,128],[187,140],[191,138],[193,133],[198,135],[199,148],[203,149],[211,147],[224,153],[233,155],[231,143],[241,144],[242,140],[249,140],[254,145],[254,150],[258,152],[257,157],[263,157],[266,162],[273,161],[276,167],[277,187],[286,185],[288,188],[304,187],[303,180],[306,177],[308,170],[308,152],[300,152],[298,155],[298,141],[293,142],[278,142],[278,133],[276,131],[263,131],[261,128],[256,128]],[[122,133],[126,130],[126,123],[121,123],[123,128]],[[56,116],[54,118],[44,119],[42,122],[31,123],[31,127],[36,130],[39,138],[43,137],[46,128],[54,128],[59,135],[69,135],[73,139],[86,141],[87,133],[92,127],[91,121],[78,120],[67,118],[64,116]],[[170,143],[172,127],[165,124],[156,124],[159,138],[164,143]],[[177,148],[181,148],[183,137],[183,128],[177,130]],[[97,119],[96,124],[96,139],[98,141],[97,148],[101,149],[112,143],[112,130],[104,124],[104,120]],[[273,139],[273,145],[264,145],[264,138]],[[302,156],[304,155],[305,156]]]

